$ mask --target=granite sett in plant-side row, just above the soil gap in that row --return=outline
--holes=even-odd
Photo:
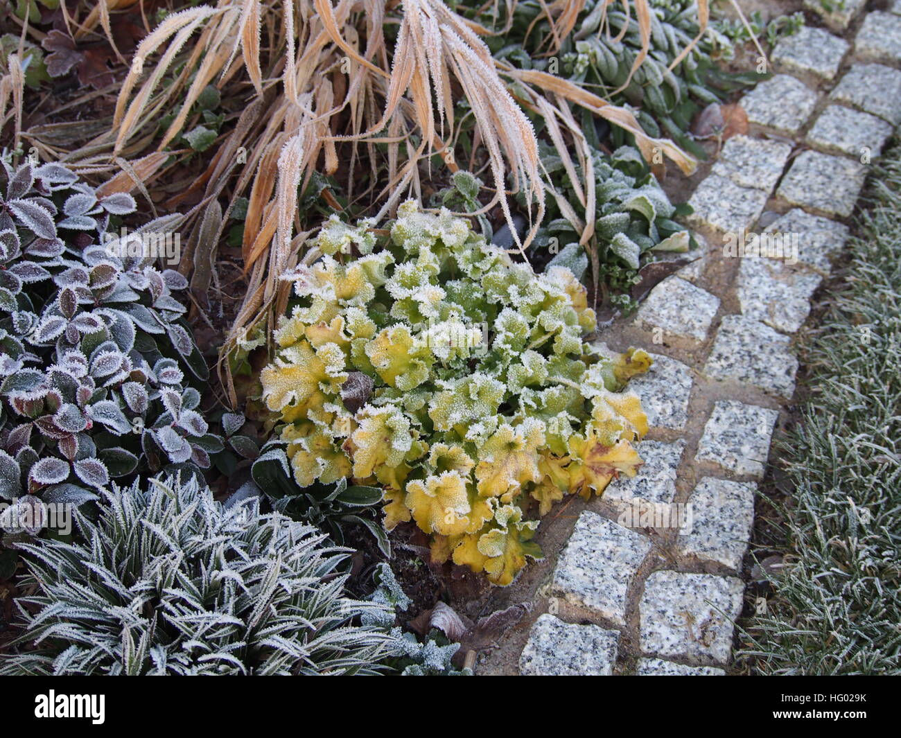
[[[740,187],[732,179],[709,174],[692,193],[694,212],[688,223],[726,233],[743,233],[757,222],[767,204],[767,193]]]

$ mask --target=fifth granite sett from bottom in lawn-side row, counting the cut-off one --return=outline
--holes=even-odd
[[[744,315],[725,315],[704,373],[713,379],[742,382],[790,398],[795,392],[798,366],[790,342],[788,336],[760,321]]]

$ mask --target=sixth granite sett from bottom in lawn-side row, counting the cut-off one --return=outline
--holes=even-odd
[[[810,313],[810,297],[823,281],[815,272],[784,261],[745,257],[735,292],[742,314],[782,333],[796,333]]]

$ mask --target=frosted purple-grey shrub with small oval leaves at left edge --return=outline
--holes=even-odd
[[[110,232],[134,210],[59,164],[0,157],[0,499],[80,504],[139,465],[222,450],[186,378],[207,376],[174,296],[187,280],[157,269],[152,238]]]

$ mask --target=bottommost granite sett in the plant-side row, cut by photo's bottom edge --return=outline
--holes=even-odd
[[[519,657],[523,677],[604,677],[613,673],[619,633],[598,625],[573,625],[545,613]]]

